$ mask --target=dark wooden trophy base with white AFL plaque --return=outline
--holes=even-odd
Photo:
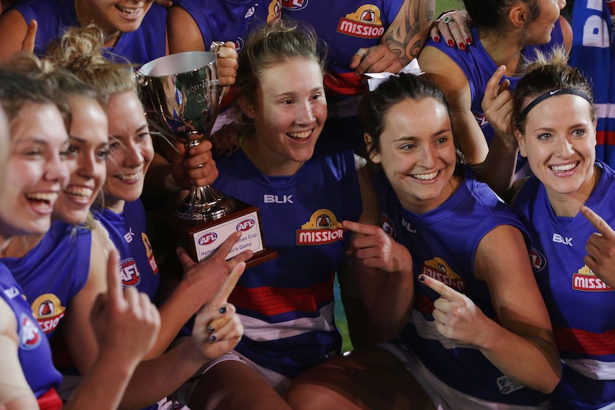
[[[242,231],[242,235],[228,253],[227,260],[248,249],[254,254],[245,262],[247,267],[278,257],[277,251],[265,247],[258,207],[237,199],[232,212],[215,220],[185,220],[167,210],[154,215],[154,224],[159,245],[171,257],[175,257],[174,249],[181,246],[195,262],[205,260],[237,230]]]

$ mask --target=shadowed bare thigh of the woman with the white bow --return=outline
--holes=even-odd
[[[435,409],[410,371],[379,347],[304,371],[293,379],[286,399],[294,410]]]

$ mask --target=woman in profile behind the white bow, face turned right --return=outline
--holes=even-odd
[[[485,119],[481,106],[487,81],[498,67],[505,66],[505,82],[514,88],[522,76],[524,57],[534,46],[565,42],[569,48],[571,29],[559,18],[565,4],[565,0],[464,0],[475,24],[472,46],[463,51],[428,41],[423,48],[420,66],[447,96],[458,127],[459,148],[469,163],[482,163],[492,141],[503,143],[494,138],[499,130]]]

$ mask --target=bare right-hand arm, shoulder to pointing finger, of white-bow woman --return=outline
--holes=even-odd
[[[501,325],[464,294],[422,275],[420,280],[441,295],[434,302],[436,329],[449,339],[478,347],[514,381],[544,393],[553,391],[561,377],[559,354],[521,232],[500,225],[485,235],[476,251],[474,275],[487,282]]]

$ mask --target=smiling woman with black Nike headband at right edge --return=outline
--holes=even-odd
[[[517,85],[512,123],[535,175],[512,205],[564,363],[554,409],[614,409],[615,173],[596,160],[591,85],[561,53],[541,58]]]

